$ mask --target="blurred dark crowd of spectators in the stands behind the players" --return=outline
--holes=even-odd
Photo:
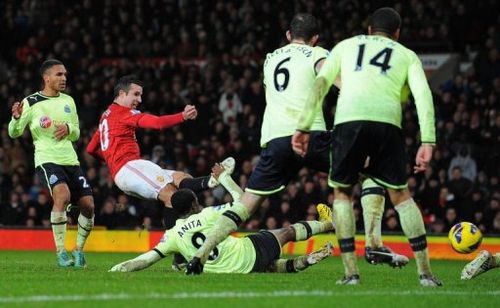
[[[389,1],[390,2],[390,1]],[[112,102],[113,85],[124,74],[145,81],[140,109],[174,113],[196,105],[196,121],[163,131],[138,130],[145,159],[193,176],[210,173],[233,156],[233,174],[244,187],[258,160],[265,108],[261,67],[267,52],[286,43],[295,12],[320,21],[320,45],[365,33],[367,18],[388,1],[306,0],[78,0],[0,3],[0,225],[50,227],[51,199],[33,171],[29,132],[7,134],[10,106],[40,89],[38,69],[47,58],[68,69],[68,94],[78,106],[82,168],[94,190],[96,225],[162,228],[173,215],[156,202],[121,193],[107,168],[85,153],[101,112]],[[496,1],[393,1],[403,16],[402,43],[417,52],[477,51],[473,69],[458,73],[434,93],[438,145],[430,168],[412,175],[409,186],[431,232],[443,233],[468,220],[486,233],[500,233],[500,47]],[[332,122],[336,91],[327,96]],[[411,101],[404,111],[410,159],[419,145]],[[408,171],[412,170],[411,163]],[[359,187],[355,212],[362,229]],[[242,227],[277,228],[317,217],[315,204],[331,204],[327,175],[303,169],[284,193],[269,198]],[[225,202],[222,189],[206,191],[207,206]],[[76,217],[75,210],[71,217]],[[386,204],[383,228],[401,231]]]

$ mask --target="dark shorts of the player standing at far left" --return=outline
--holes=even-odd
[[[54,163],[45,163],[36,167],[36,172],[51,195],[54,187],[60,183],[68,185],[71,192],[71,202],[76,202],[83,196],[92,195],[92,188],[80,166],[62,166]]]

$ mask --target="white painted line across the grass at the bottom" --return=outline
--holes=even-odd
[[[500,290],[485,292],[465,292],[447,290],[422,291],[273,291],[273,292],[179,292],[179,293],[101,293],[89,295],[34,295],[0,297],[0,304],[4,303],[37,303],[37,302],[80,302],[80,301],[111,301],[111,300],[148,300],[148,299],[227,299],[227,298],[273,298],[273,297],[335,297],[335,296],[498,296]]]

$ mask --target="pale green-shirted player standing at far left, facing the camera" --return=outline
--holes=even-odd
[[[94,226],[94,199],[72,144],[80,136],[78,115],[73,98],[61,92],[66,89],[67,72],[63,63],[47,60],[40,74],[42,91],[13,104],[9,136],[17,138],[29,127],[35,145],[36,172],[54,200],[50,222],[57,262],[62,267],[83,268],[86,266],[83,246]],[[71,202],[76,202],[81,211],[74,260],[64,248],[66,207]]]

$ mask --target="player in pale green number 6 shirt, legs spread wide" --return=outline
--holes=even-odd
[[[262,124],[260,159],[250,175],[241,202],[221,216],[207,240],[188,265],[188,274],[199,274],[210,251],[236,230],[269,195],[285,188],[297,172],[308,167],[323,172],[330,169],[331,132],[326,131],[321,106],[313,112],[311,146],[308,155],[296,155],[290,144],[314,78],[328,52],[314,47],[318,40],[315,18],[299,13],[293,18],[287,39],[290,44],[269,53],[264,63],[266,110]],[[380,228],[384,191],[371,180],[363,182],[363,216],[370,232],[366,256],[370,263],[404,266],[405,256],[383,246]]]

